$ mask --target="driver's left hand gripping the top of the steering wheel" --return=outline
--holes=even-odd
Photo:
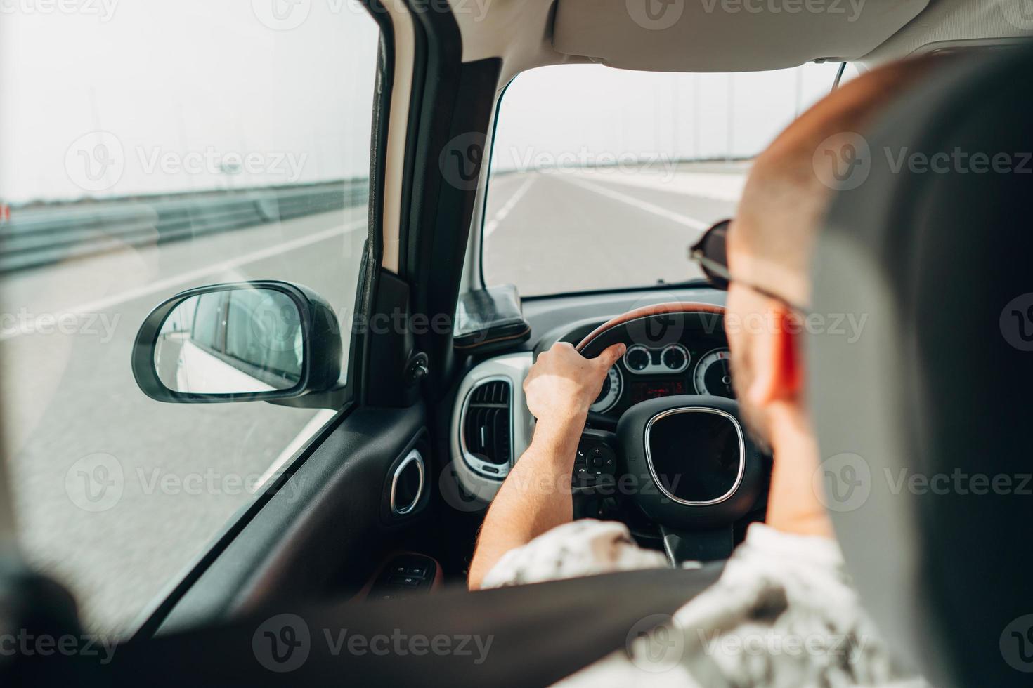
[[[565,426],[584,423],[588,408],[599,396],[609,368],[624,355],[616,343],[588,359],[567,342],[558,341],[538,356],[524,381],[527,406],[538,423]],[[573,428],[581,433],[582,427]]]

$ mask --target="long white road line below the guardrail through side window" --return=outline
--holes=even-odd
[[[124,303],[126,301],[131,301],[140,296],[147,296],[149,294],[154,294],[155,292],[164,291],[176,285],[181,285],[184,282],[191,282],[193,280],[199,280],[207,274],[213,272],[221,272],[224,270],[229,270],[234,267],[240,267],[241,265],[246,265],[247,263],[254,263],[255,261],[263,260],[265,258],[272,258],[274,256],[279,256],[280,254],[286,253],[288,251],[293,251],[294,249],[301,249],[302,247],[307,247],[312,243],[318,243],[328,238],[345,234],[346,232],[353,231],[359,227],[367,226],[366,220],[356,220],[350,222],[342,227],[333,227],[331,229],[323,230],[321,232],[316,232],[314,234],[308,234],[306,236],[301,236],[296,239],[291,239],[290,241],[284,241],[283,243],[277,243],[276,245],[268,247],[259,251],[254,251],[237,258],[231,258],[229,260],[224,260],[219,263],[213,263],[211,265],[206,265],[205,267],[199,267],[194,270],[188,270],[186,272],[181,272],[171,277],[165,277],[164,280],[158,280],[157,282],[152,282],[149,285],[144,285],[143,287],[137,287],[136,289],[130,289],[124,291],[120,294],[113,294],[112,296],[106,296],[102,299],[97,299],[95,301],[90,301],[89,303],[82,303],[76,306],[72,306],[63,313],[46,314],[39,316],[35,320],[29,321],[18,327],[8,327],[6,329],[0,330],[0,341],[6,341],[7,339],[13,339],[17,336],[23,334],[32,334],[35,332],[40,324],[45,324],[48,327],[53,327],[55,320],[61,321],[62,318],[68,316],[79,316],[82,314],[98,313],[101,310],[106,310],[114,305],[119,303]]]

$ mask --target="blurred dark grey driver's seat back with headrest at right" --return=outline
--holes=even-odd
[[[862,327],[808,335],[814,480],[905,660],[1029,685],[1033,53],[943,71],[842,151],[812,309]]]

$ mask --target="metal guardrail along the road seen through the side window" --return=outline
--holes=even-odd
[[[328,212],[368,197],[367,179],[346,179],[14,207],[0,224],[0,272]]]

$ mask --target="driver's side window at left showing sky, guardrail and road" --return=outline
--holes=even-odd
[[[291,282],[335,310],[346,373],[380,30],[348,3],[54,4],[0,11],[3,454],[30,563],[125,633],[333,416],[154,401],[136,331],[194,287]],[[258,293],[185,303],[162,379],[291,387],[298,333]]]

